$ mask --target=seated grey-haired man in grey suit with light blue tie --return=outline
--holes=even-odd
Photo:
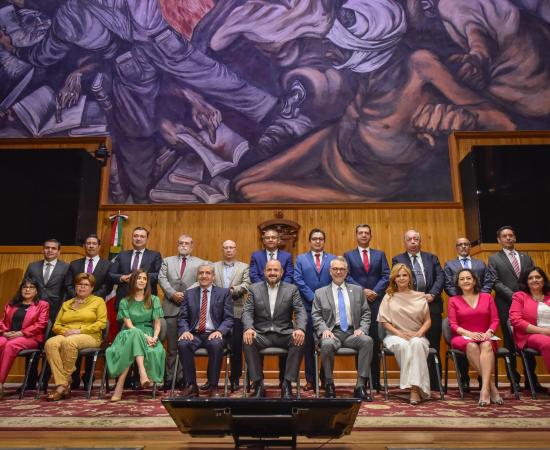
[[[369,336],[370,308],[363,288],[346,284],[348,263],[342,256],[330,262],[332,283],[315,291],[311,316],[320,341],[321,361],[325,371],[325,397],[335,398],[334,354],[340,347],[353,348],[357,355],[357,383],[353,396],[372,402],[365,390],[370,378],[372,338]]]

